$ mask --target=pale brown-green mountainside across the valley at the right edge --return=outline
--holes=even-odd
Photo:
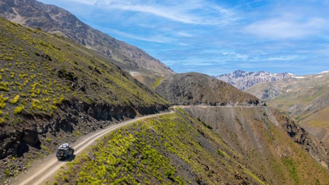
[[[299,125],[329,144],[329,73],[259,83],[246,92],[289,113]],[[271,96],[274,93],[270,92],[277,94]]]

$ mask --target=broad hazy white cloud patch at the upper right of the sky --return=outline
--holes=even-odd
[[[321,33],[325,29],[325,24],[327,24],[327,21],[323,18],[297,20],[282,16],[254,22],[246,26],[243,31],[269,39],[300,39]]]

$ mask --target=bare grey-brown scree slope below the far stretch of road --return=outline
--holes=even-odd
[[[259,169],[269,184],[329,183],[329,148],[288,115],[271,107],[182,108]]]

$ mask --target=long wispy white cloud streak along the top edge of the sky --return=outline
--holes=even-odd
[[[154,1],[143,0],[63,0],[74,1],[88,5],[94,5],[107,9],[116,9],[122,11],[142,12],[159,17],[163,17],[172,21],[182,22],[186,24],[200,25],[218,25],[228,24],[230,21],[236,20],[232,17],[233,11],[220,7],[218,5],[207,2],[206,0],[184,0],[174,1],[168,0],[165,3],[155,3]],[[197,12],[201,13],[197,13]],[[205,13],[206,12],[206,13]],[[216,13],[219,15],[206,15],[207,13]]]

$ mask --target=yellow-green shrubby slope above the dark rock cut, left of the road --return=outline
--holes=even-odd
[[[11,120],[21,112],[53,116],[63,101],[166,106],[163,99],[99,57],[101,54],[70,39],[2,18],[0,38],[0,108],[9,114],[5,124],[15,124]]]

